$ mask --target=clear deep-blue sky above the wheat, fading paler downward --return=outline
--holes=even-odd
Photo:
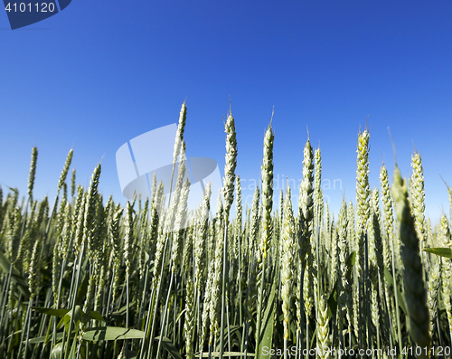
[[[276,192],[286,176],[298,187],[307,127],[330,208],[338,213],[343,195],[354,203],[356,141],[369,117],[372,188],[383,160],[392,177],[389,127],[405,177],[413,143],[422,156],[426,211],[438,222],[449,213],[439,174],[452,185],[451,12],[439,0],[74,0],[11,31],[2,11],[0,185],[26,194],[38,146],[34,196],[53,199],[73,146],[78,183],[89,184],[103,156],[99,191],[125,203],[116,151],[176,122],[185,98],[187,155],[212,157],[222,173],[231,96],[249,203],[274,107]]]

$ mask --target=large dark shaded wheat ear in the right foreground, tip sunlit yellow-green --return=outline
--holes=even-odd
[[[413,217],[408,203],[407,185],[403,181],[399,167],[394,171],[392,192],[396,203],[396,214],[399,220],[401,259],[403,260],[403,284],[405,302],[410,319],[410,335],[420,347],[430,347],[428,333],[429,319],[427,307],[427,290],[425,288],[422,263],[419,256],[419,239],[416,235]],[[419,357],[427,358],[422,351]]]

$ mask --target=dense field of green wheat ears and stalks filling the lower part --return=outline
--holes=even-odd
[[[190,212],[185,120],[184,103],[167,197],[154,177],[144,203],[104,205],[100,164],[89,188],[73,170],[68,191],[72,150],[52,207],[33,199],[36,148],[28,196],[19,202],[9,188],[4,199],[0,187],[0,358],[450,357],[452,263],[422,250],[445,250],[449,219],[432,229],[425,216],[418,152],[409,183],[396,166],[390,185],[382,165],[372,191],[370,133],[360,130],[356,203],[343,202],[334,220],[307,137],[294,162],[298,211],[290,187],[274,211],[270,121],[261,185],[243,210],[230,111],[223,187],[212,194],[206,184]]]

